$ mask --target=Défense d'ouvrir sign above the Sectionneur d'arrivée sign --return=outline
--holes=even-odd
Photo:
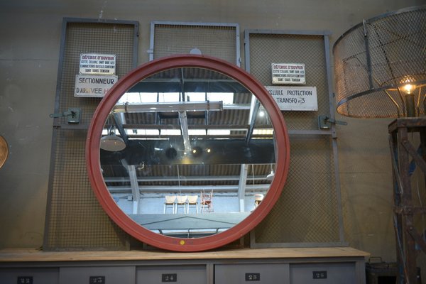
[[[115,75],[116,55],[115,54],[80,54],[79,74],[86,75]]]

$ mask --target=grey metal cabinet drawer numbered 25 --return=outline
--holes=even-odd
[[[288,283],[288,263],[217,264],[214,283]]]

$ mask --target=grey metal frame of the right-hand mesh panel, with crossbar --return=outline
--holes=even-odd
[[[324,54],[325,65],[327,72],[327,86],[329,96],[329,117],[334,119],[334,93],[332,87],[332,67],[330,65],[330,45],[329,35],[330,31],[295,31],[295,30],[246,30],[244,31],[244,55],[245,55],[245,69],[250,72],[250,35],[251,34],[270,34],[270,35],[322,35],[324,38]],[[342,213],[342,193],[340,188],[339,176],[339,156],[337,151],[337,133],[334,124],[328,131],[323,130],[290,130],[290,135],[329,135],[332,138],[332,151],[334,158],[334,178],[336,187],[337,198],[337,218],[339,221],[339,242],[331,243],[256,243],[255,230],[250,232],[250,246],[251,248],[271,248],[271,247],[324,247],[324,246],[348,246],[344,241],[344,227],[343,227],[343,213]]]

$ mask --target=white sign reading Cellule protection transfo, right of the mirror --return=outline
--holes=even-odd
[[[265,86],[282,111],[317,111],[317,87]]]

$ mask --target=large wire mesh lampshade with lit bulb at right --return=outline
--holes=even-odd
[[[364,118],[425,114],[426,6],[364,20],[334,43],[337,112]]]

